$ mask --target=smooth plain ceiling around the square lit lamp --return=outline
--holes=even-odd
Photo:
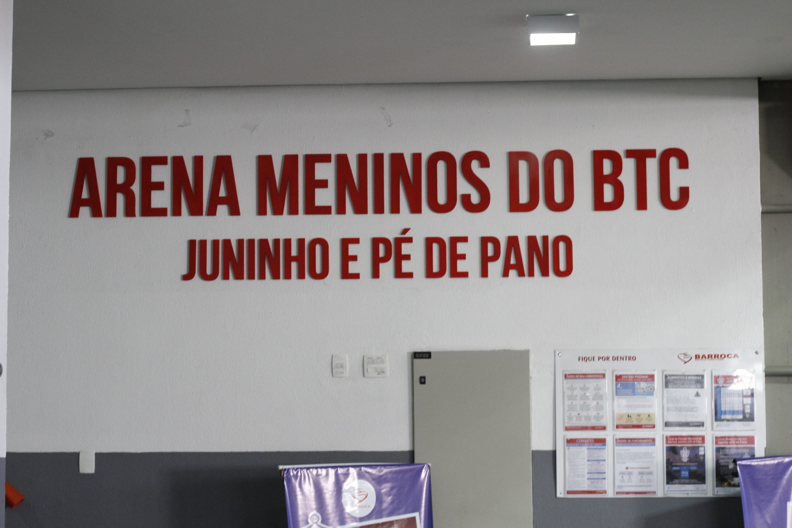
[[[580,13],[529,47],[526,13]],[[792,78],[790,0],[17,0],[13,88]]]

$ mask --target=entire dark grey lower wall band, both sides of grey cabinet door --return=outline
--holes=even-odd
[[[739,498],[558,499],[555,452],[533,452],[535,528],[741,528]],[[76,453],[9,453],[6,479],[25,494],[9,528],[285,528],[278,465],[411,462],[409,451],[99,453],[78,473]],[[447,528],[438,526],[438,528]]]

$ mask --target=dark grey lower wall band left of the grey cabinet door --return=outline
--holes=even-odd
[[[409,451],[97,453],[79,473],[76,453],[9,453],[7,480],[25,501],[11,528],[285,528],[278,465],[411,462]]]

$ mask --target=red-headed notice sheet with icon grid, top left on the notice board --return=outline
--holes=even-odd
[[[603,372],[564,373],[564,430],[604,431],[607,382]]]

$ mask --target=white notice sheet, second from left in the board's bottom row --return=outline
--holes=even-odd
[[[620,438],[613,444],[616,495],[657,495],[655,438]]]

